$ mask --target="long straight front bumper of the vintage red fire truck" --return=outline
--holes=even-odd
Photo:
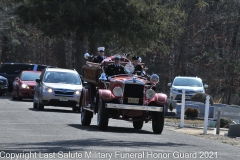
[[[129,104],[106,103],[105,108],[163,112],[163,107],[160,106],[140,106]]]

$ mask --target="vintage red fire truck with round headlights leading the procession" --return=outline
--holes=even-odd
[[[89,54],[85,54],[85,58]],[[114,75],[107,80],[104,70],[113,63],[113,56],[101,64],[87,62],[83,66],[83,81],[87,85],[82,90],[80,111],[82,125],[90,125],[97,114],[97,126],[106,130],[108,121],[120,119],[132,121],[135,129],[141,129],[144,122],[152,121],[152,130],[161,134],[164,127],[164,106],[167,95],[155,92],[159,76],[133,75],[131,61],[121,55],[120,63],[126,74]],[[140,63],[144,67],[144,63]]]

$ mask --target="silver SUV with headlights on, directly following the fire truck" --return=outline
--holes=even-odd
[[[62,106],[80,111],[82,82],[76,70],[45,68],[36,82],[34,108],[42,110],[44,106]]]

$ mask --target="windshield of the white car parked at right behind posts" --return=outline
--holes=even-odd
[[[174,86],[202,87],[202,82],[192,78],[176,78],[173,81]]]

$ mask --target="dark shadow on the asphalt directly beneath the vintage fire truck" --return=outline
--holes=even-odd
[[[71,127],[74,127],[74,128],[80,129],[80,130],[95,131],[95,132],[153,134],[153,132],[138,130],[138,129],[134,129],[134,128],[126,128],[126,127],[108,126],[107,130],[100,131],[98,129],[97,125],[83,126],[81,124],[69,124],[68,126],[71,126]]]

